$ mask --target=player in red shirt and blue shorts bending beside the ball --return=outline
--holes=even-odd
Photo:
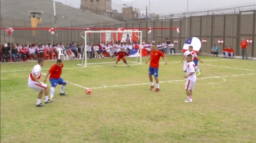
[[[67,93],[64,93],[67,83],[60,77],[60,75],[62,74],[62,68],[63,68],[62,60],[58,59],[57,63],[53,64],[53,66],[50,67],[48,73],[46,74],[46,78],[43,81],[44,83],[46,83],[46,79],[50,74],[49,79],[50,79],[50,84],[52,85],[52,88],[50,88],[50,101],[55,100],[53,95],[54,95],[55,87],[57,86],[57,84],[62,85],[60,90],[60,95],[67,95]]]

